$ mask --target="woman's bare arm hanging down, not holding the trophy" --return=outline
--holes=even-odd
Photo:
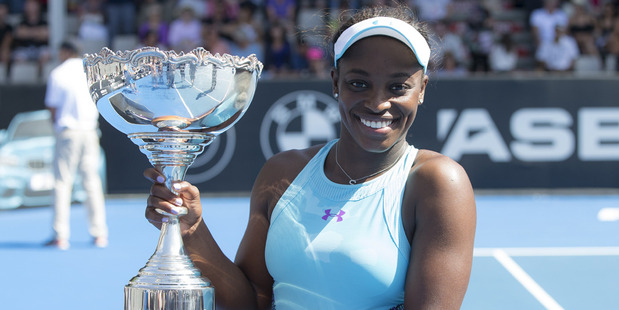
[[[414,223],[405,308],[460,309],[473,261],[473,189],[464,169],[446,156],[416,166],[407,188],[413,198],[403,206],[413,208],[406,214]]]

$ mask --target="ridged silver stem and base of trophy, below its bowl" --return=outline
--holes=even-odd
[[[129,138],[166,177],[166,186],[182,181],[189,166],[214,136],[191,132],[150,132]],[[186,214],[179,208],[179,215]],[[125,286],[125,310],[212,310],[215,290],[185,253],[179,216],[164,213],[155,253]]]

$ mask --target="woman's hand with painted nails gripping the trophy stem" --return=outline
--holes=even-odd
[[[157,169],[146,169],[144,177],[153,182],[146,204],[146,219],[161,229],[161,224],[167,222],[168,216],[158,210],[177,214],[178,208],[183,207],[187,209],[187,214],[179,216],[181,234],[185,236],[193,233],[202,221],[202,204],[198,188],[186,181],[177,182],[172,185],[178,192],[177,195],[165,186],[165,177]]]

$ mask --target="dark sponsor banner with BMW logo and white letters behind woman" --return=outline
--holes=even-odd
[[[616,188],[617,92],[617,79],[433,80],[407,140],[461,163],[477,189]],[[147,193],[146,156],[101,122],[108,191]],[[249,192],[267,158],[339,131],[329,81],[261,81],[247,113],[198,156],[187,180],[208,193]]]

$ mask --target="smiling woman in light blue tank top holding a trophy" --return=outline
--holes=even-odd
[[[430,58],[408,12],[365,9],[336,32],[341,138],[266,162],[235,262],[201,219],[198,189],[181,182],[175,196],[146,170],[147,218],[159,226],[155,209],[189,209],[183,240],[218,309],[459,309],[475,201],[457,163],[406,142]]]

